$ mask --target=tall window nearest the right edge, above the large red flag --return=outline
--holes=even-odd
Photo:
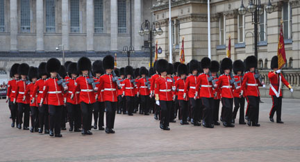
[[[282,19],[283,37],[285,39],[292,39],[292,8],[288,2],[283,2]]]

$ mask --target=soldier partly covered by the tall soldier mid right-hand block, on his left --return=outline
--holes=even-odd
[[[201,126],[201,117],[199,116],[201,110],[201,100],[199,96],[195,96],[196,94],[196,85],[198,83],[198,70],[199,70],[199,62],[198,60],[190,60],[189,70],[191,75],[188,76],[185,83],[183,98],[189,97],[190,106],[191,106],[191,123],[194,126]]]

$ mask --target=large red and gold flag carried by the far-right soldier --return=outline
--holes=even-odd
[[[283,67],[287,61],[285,56],[282,22],[281,22],[281,32],[279,34],[279,40],[278,40],[277,56],[278,56],[278,69],[281,69],[281,67]]]

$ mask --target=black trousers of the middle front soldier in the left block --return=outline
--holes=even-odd
[[[81,102],[81,112],[83,118],[83,129],[88,131],[91,129],[92,125],[92,108],[94,104],[86,104]]]

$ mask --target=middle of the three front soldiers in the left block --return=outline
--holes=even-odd
[[[96,97],[94,95],[94,91],[97,91],[98,88],[93,88],[90,78],[89,72],[91,72],[92,63],[89,58],[81,57],[77,63],[77,70],[83,74],[83,76],[79,76],[76,79],[77,86],[74,88],[72,92],[71,99],[74,98],[74,94],[77,91],[81,91],[79,95],[79,102],[81,104],[81,112],[83,117],[83,130],[81,134],[83,135],[92,135],[90,131],[92,125],[92,109],[94,103],[96,102]]]

